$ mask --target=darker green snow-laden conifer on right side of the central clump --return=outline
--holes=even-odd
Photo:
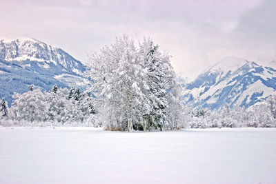
[[[145,114],[148,123],[146,127],[153,125],[162,130],[162,127],[170,123],[168,113],[171,111],[168,103],[171,105],[170,110],[173,105],[179,105],[175,72],[170,65],[170,56],[162,54],[159,45],[155,45],[151,39],[144,39],[140,44],[139,54],[147,71],[144,76],[144,104],[148,105],[148,112]]]

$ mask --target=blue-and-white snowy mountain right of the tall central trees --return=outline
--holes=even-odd
[[[182,100],[194,108],[248,108],[276,93],[276,70],[227,57],[184,85]]]

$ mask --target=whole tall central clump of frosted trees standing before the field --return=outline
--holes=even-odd
[[[168,122],[166,97],[175,75],[168,55],[158,49],[146,39],[137,48],[124,36],[90,56],[86,76],[94,83],[88,90],[97,92],[97,101],[108,109],[110,127],[115,123],[130,131],[146,128],[143,122],[147,122],[148,128],[162,130]]]

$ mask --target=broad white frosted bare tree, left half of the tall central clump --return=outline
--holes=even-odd
[[[90,67],[87,74],[95,80],[93,91],[99,92],[97,98],[110,106],[117,121],[130,131],[139,114],[137,105],[142,96],[139,80],[144,72],[134,42],[126,36],[117,39],[99,55],[90,57]]]

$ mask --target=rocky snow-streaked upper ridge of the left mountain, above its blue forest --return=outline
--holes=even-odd
[[[29,37],[19,37],[15,40],[2,39],[0,41],[0,59],[19,62],[37,61],[39,65],[45,65],[45,68],[53,63],[76,74],[81,74],[85,70],[80,61],[74,59],[67,52]]]

